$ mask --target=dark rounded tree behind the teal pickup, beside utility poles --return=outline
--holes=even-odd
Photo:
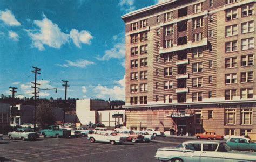
[[[36,121],[41,125],[42,129],[55,124],[55,116],[53,115],[50,104],[41,103],[38,105],[36,109]]]

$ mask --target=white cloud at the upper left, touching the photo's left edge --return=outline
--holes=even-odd
[[[12,12],[8,9],[5,11],[0,10],[0,20],[9,26],[21,26],[21,23],[18,22]]]

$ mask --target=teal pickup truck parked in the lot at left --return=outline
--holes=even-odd
[[[62,130],[59,128],[59,126],[51,125],[48,129],[44,129],[41,131],[41,135],[44,137],[71,137],[71,131],[70,130]]]

